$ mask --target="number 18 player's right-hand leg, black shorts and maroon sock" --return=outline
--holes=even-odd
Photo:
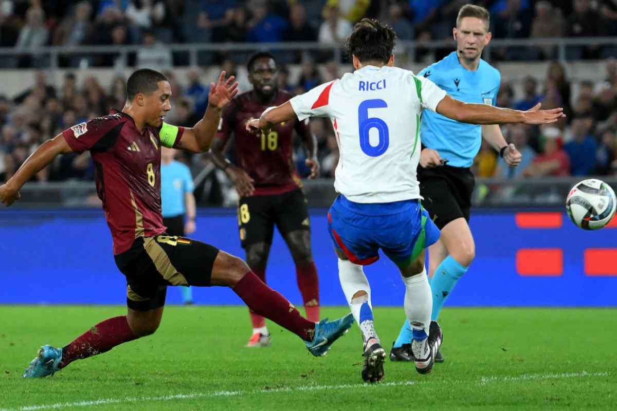
[[[296,264],[296,280],[307,319],[319,320],[319,277],[311,251],[309,210],[302,190],[284,193],[277,205],[276,226]]]

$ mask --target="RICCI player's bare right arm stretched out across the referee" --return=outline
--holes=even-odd
[[[463,103],[450,96],[445,96],[437,104],[436,112],[452,120],[470,124],[547,124],[555,123],[561,117],[566,116],[561,107],[540,110],[540,103],[526,112],[521,112],[487,104]]]

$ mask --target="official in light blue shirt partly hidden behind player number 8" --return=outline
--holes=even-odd
[[[175,149],[162,147],[160,166],[160,197],[163,224],[167,234],[184,237],[195,231],[195,197],[193,176],[186,165],[173,159]],[[186,218],[186,221],[185,221]],[[193,304],[189,287],[178,287],[184,304]]]

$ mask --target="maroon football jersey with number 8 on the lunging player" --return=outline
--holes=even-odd
[[[130,115],[112,110],[62,132],[73,152],[90,150],[96,191],[114,238],[114,254],[135,238],[165,232],[160,207],[160,128],[143,134]],[[178,128],[175,145],[184,132]]]

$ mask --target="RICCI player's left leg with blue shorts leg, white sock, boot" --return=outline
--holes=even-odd
[[[337,198],[328,213],[328,230],[338,256],[339,280],[345,299],[362,333],[364,364],[362,380],[370,383],[383,380],[386,351],[375,331],[371,287],[363,266],[379,258],[378,248],[368,241],[370,230],[347,224],[352,212],[340,206]]]

